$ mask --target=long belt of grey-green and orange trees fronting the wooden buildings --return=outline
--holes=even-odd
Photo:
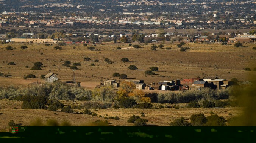
[[[157,70],[156,68],[152,68]],[[114,73],[117,76],[119,73]],[[122,74],[121,74],[122,75]],[[120,76],[120,75],[119,75]],[[28,75],[33,78],[34,75]],[[136,86],[132,82],[121,82],[119,90],[115,91],[111,87],[100,87],[94,90],[88,90],[81,87],[70,87],[65,82],[54,81],[53,84],[44,84],[43,86],[31,86],[29,88],[7,87],[0,88],[0,99],[9,98],[23,100],[26,98],[27,103],[24,106],[30,106],[32,100],[36,98],[45,98],[33,108],[45,108],[48,100],[87,100],[101,101],[111,103],[113,108],[151,108],[152,103],[189,103],[188,108],[225,108],[226,106],[240,106],[230,96],[231,89],[211,90],[204,88],[202,90],[188,90],[180,93],[159,93],[145,94],[141,90],[134,90]],[[228,99],[221,101],[220,99]],[[25,100],[24,100],[25,101]],[[47,103],[48,104],[48,103]],[[50,105],[50,103],[49,103]],[[109,107],[109,106],[108,106]],[[32,108],[32,107],[31,107]]]

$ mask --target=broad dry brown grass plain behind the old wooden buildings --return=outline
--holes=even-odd
[[[139,44],[139,43],[132,43]],[[150,50],[152,44],[141,44],[142,49],[134,49],[128,46],[128,43],[103,43],[94,46],[98,50],[88,50],[83,44],[68,44],[62,46],[62,50],[55,50],[53,46],[45,44],[26,44],[9,43],[0,45],[0,72],[11,74],[10,78],[0,77],[0,86],[22,85],[28,86],[29,83],[40,81],[42,79],[23,79],[24,76],[32,73],[37,77],[46,75],[52,70],[62,81],[71,81],[73,71],[68,67],[61,66],[65,60],[71,63],[79,62],[81,67],[75,71],[76,80],[81,82],[83,87],[94,88],[100,84],[100,80],[111,79],[114,72],[125,73],[129,79],[141,79],[145,83],[159,82],[170,79],[203,78],[204,76],[215,76],[228,79],[237,78],[239,81],[249,80],[247,75],[255,76],[255,71],[244,71],[243,68],[249,67],[253,70],[256,67],[256,47],[255,44],[245,43],[244,47],[236,48],[232,45],[222,46],[220,43],[198,44],[186,43],[183,47],[189,47],[190,50],[181,52],[176,44],[164,43],[163,49],[157,51]],[[20,46],[26,45],[28,49],[20,49]],[[6,50],[6,46],[15,47],[15,50]],[[76,47],[73,49],[73,47]],[[116,50],[121,47],[122,50]],[[171,47],[171,50],[166,50]],[[126,49],[128,48],[128,49]],[[242,56],[241,56],[242,55]],[[91,61],[83,61],[84,57],[91,58]],[[130,62],[123,63],[121,58],[126,57]],[[109,58],[112,64],[104,61]],[[94,60],[98,59],[99,62]],[[43,63],[42,70],[30,70],[34,62]],[[7,65],[9,62],[15,62],[16,65]],[[94,63],[95,66],[91,66]],[[56,66],[53,66],[55,64]],[[28,65],[29,68],[25,68]],[[135,65],[138,70],[128,70],[129,65]],[[159,71],[156,75],[145,75],[145,70],[156,66]],[[117,78],[118,79],[118,78]]]

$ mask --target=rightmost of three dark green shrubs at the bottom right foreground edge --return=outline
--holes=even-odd
[[[219,117],[217,114],[210,115],[206,117],[206,119],[206,126],[226,126],[226,121],[224,117]]]

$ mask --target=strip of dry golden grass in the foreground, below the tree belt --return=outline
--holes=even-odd
[[[72,114],[72,113],[64,113],[60,111],[48,111],[43,109],[21,109],[22,102],[14,101],[8,99],[0,100],[1,108],[0,113],[0,132],[5,132],[5,129],[8,128],[9,120],[14,120],[16,124],[22,126],[30,126],[32,121],[36,119],[41,119],[45,124],[47,120],[55,119],[59,123],[62,121],[68,121],[73,126],[83,126],[88,123],[92,123],[95,120],[104,120],[103,117],[109,116],[118,116],[120,120],[108,119],[109,125],[111,126],[133,126],[133,123],[127,123],[129,117],[133,114],[140,116],[141,112],[145,113],[145,118],[148,120],[147,126],[169,126],[170,122],[173,122],[174,119],[184,116],[187,121],[190,122],[189,118],[192,114],[203,113],[206,116],[213,114],[218,114],[219,116],[223,116],[226,120],[237,116],[242,112],[242,108],[162,108],[162,109],[99,109],[91,111],[96,112],[98,116],[96,117],[87,114]],[[78,105],[83,104],[82,101],[62,101],[62,103],[68,105]],[[183,104],[178,104],[177,106],[182,107]],[[14,109],[16,107],[17,109]],[[83,111],[83,110],[75,110],[75,111]],[[53,113],[56,113],[53,114]],[[232,115],[228,115],[231,113]],[[108,115],[106,115],[108,114]]]

